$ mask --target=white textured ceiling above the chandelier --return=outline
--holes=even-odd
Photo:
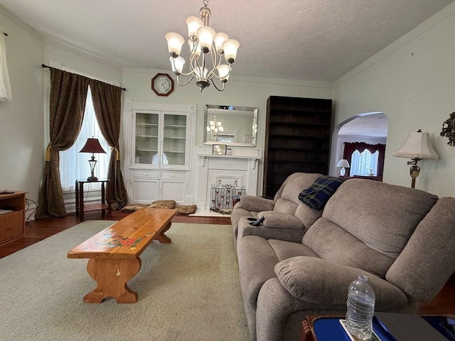
[[[210,26],[240,41],[231,77],[333,82],[453,1],[211,0]],[[186,36],[186,17],[199,16],[203,1],[0,0],[0,6],[45,38],[111,65],[167,70],[164,35]]]

